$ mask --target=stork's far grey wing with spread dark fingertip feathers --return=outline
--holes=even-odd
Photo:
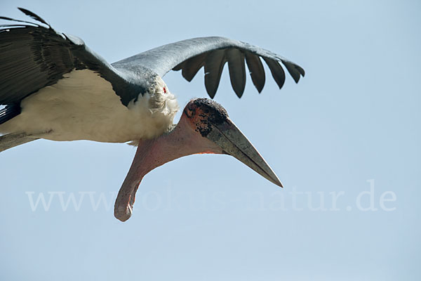
[[[244,60],[246,60],[251,79],[259,93],[265,85],[265,70],[260,58],[265,60],[269,66],[279,89],[282,88],[285,81],[285,72],[281,63],[296,83],[300,80],[300,76],[304,77],[305,75],[302,67],[280,55],[224,37],[201,37],[179,41],[133,55],[112,65],[130,69],[140,66],[147,67],[161,77],[170,70],[182,70],[182,76],[187,81],[192,81],[194,75],[201,67],[204,67],[206,91],[210,98],[213,98],[218,89],[222,69],[225,63],[228,63],[232,88],[241,98],[246,86]]]

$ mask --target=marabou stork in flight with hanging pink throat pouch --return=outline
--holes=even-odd
[[[35,13],[36,20],[0,17],[0,152],[44,138],[90,140],[138,145],[133,163],[114,205],[120,221],[131,217],[135,193],[152,169],[197,153],[236,157],[282,187],[265,159],[229,119],[220,104],[195,98],[173,124],[179,107],[162,77],[181,70],[191,81],[204,68],[206,91],[215,96],[222,69],[241,98],[246,66],[255,88],[262,91],[269,67],[279,89],[283,67],[298,83],[302,67],[275,53],[223,37],[201,37],[153,48],[109,64],[79,37],[56,32]]]

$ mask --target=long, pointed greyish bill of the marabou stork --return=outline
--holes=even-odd
[[[265,159],[230,119],[226,119],[219,125],[213,124],[213,130],[208,133],[207,138],[219,145],[227,154],[236,157],[256,171],[260,176],[283,188],[281,181]]]

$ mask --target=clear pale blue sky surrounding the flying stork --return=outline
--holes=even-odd
[[[189,156],[148,174],[121,223],[112,207],[135,148],[2,152],[0,280],[421,280],[420,1],[6,0],[1,15],[26,19],[16,6],[110,63],[219,35],[306,77],[279,91],[267,72],[260,95],[248,77],[239,100],[225,66],[215,96],[283,189],[233,157]],[[206,96],[203,70],[164,80],[181,107]],[[41,195],[49,207],[31,205]],[[64,208],[72,195],[80,206]]]

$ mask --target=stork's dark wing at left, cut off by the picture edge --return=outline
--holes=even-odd
[[[19,9],[42,25],[0,17],[9,21],[0,25],[0,105],[8,105],[1,110],[0,121],[10,119],[12,116],[6,115],[13,108],[18,113],[13,105],[20,100],[57,83],[72,70],[89,69],[100,74],[112,84],[124,105],[142,92],[80,38],[56,32],[38,15]]]

